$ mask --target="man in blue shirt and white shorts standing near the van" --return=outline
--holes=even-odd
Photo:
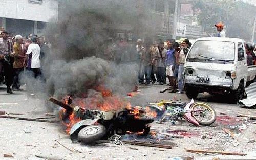
[[[167,50],[167,59],[166,59],[166,76],[168,77],[168,80],[170,82],[170,86],[172,87],[172,89],[170,90],[170,92],[174,92],[175,86],[176,84],[174,84],[174,70],[175,70],[175,58],[174,58],[174,54],[175,54],[175,50],[173,48],[175,43],[175,40],[172,41],[168,41],[168,47],[169,49]],[[176,90],[175,90],[176,92]]]

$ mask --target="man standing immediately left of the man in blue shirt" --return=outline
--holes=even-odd
[[[163,85],[165,75],[165,60],[167,50],[164,48],[164,42],[159,43],[159,47],[156,49],[155,59],[157,61],[157,72],[159,76],[159,84]]]

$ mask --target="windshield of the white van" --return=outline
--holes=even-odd
[[[196,41],[187,56],[187,61],[232,64],[234,42]]]

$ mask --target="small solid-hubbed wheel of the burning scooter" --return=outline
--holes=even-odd
[[[90,125],[79,131],[78,139],[84,143],[93,143],[103,138],[105,134],[106,128],[103,125]]]

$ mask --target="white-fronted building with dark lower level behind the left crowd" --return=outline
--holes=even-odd
[[[13,34],[40,34],[58,16],[57,0],[0,0],[0,4],[0,26]]]

